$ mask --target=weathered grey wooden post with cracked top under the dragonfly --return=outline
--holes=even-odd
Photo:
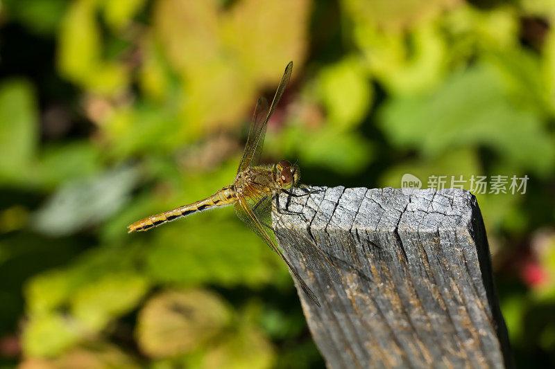
[[[278,242],[322,305],[299,290],[327,366],[513,368],[470,192],[321,188],[280,209]]]

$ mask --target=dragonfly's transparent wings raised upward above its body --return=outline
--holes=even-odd
[[[289,78],[291,78],[291,71],[293,71],[293,62],[289,62],[285,67],[285,71],[282,76],[278,90],[275,91],[273,96],[272,105],[268,109],[268,102],[265,98],[259,98],[255,114],[253,114],[253,120],[250,123],[250,130],[248,132],[247,143],[245,145],[245,151],[241,157],[241,163],[239,163],[239,168],[237,173],[242,172],[247,167],[252,165],[257,165],[260,159],[260,153],[262,152],[262,147],[264,146],[264,135],[266,134],[266,124],[268,119],[275,110],[276,105],[280,102],[282,98],[283,91],[287,87]],[[266,112],[267,111],[267,112]]]

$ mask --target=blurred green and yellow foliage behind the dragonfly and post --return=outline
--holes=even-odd
[[[232,210],[126,233],[232,180],[289,60],[264,161],[304,183],[529,176],[477,197],[517,363],[555,366],[555,1],[2,0],[3,367],[323,367]]]

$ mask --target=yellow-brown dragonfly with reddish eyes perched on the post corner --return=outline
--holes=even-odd
[[[237,217],[261,237],[270,246],[270,249],[280,255],[280,258],[287,264],[287,268],[297,280],[302,291],[305,292],[314,304],[320,307],[321,305],[314,292],[302,280],[295,268],[293,268],[291,263],[284,257],[282,251],[280,251],[275,241],[273,228],[271,227],[271,214],[276,211],[273,210],[272,204],[275,200],[279,206],[278,195],[280,192],[299,196],[289,192],[289,189],[299,186],[300,170],[298,165],[291,165],[287,160],[279,161],[273,165],[259,165],[268,119],[278,105],[278,102],[280,102],[289,78],[291,78],[292,70],[293,62],[289,62],[270,107],[268,107],[268,102],[264,97],[258,99],[250,123],[245,150],[243,156],[241,156],[237,175],[231,185],[221,188],[214,195],[205,199],[141,219],[128,226],[128,233],[147,231],[179,217],[186,217],[187,215],[211,208],[233,205]],[[309,193],[311,192],[307,191],[307,195]],[[307,242],[311,243],[310,240],[307,240]],[[314,247],[317,246],[314,245]]]

